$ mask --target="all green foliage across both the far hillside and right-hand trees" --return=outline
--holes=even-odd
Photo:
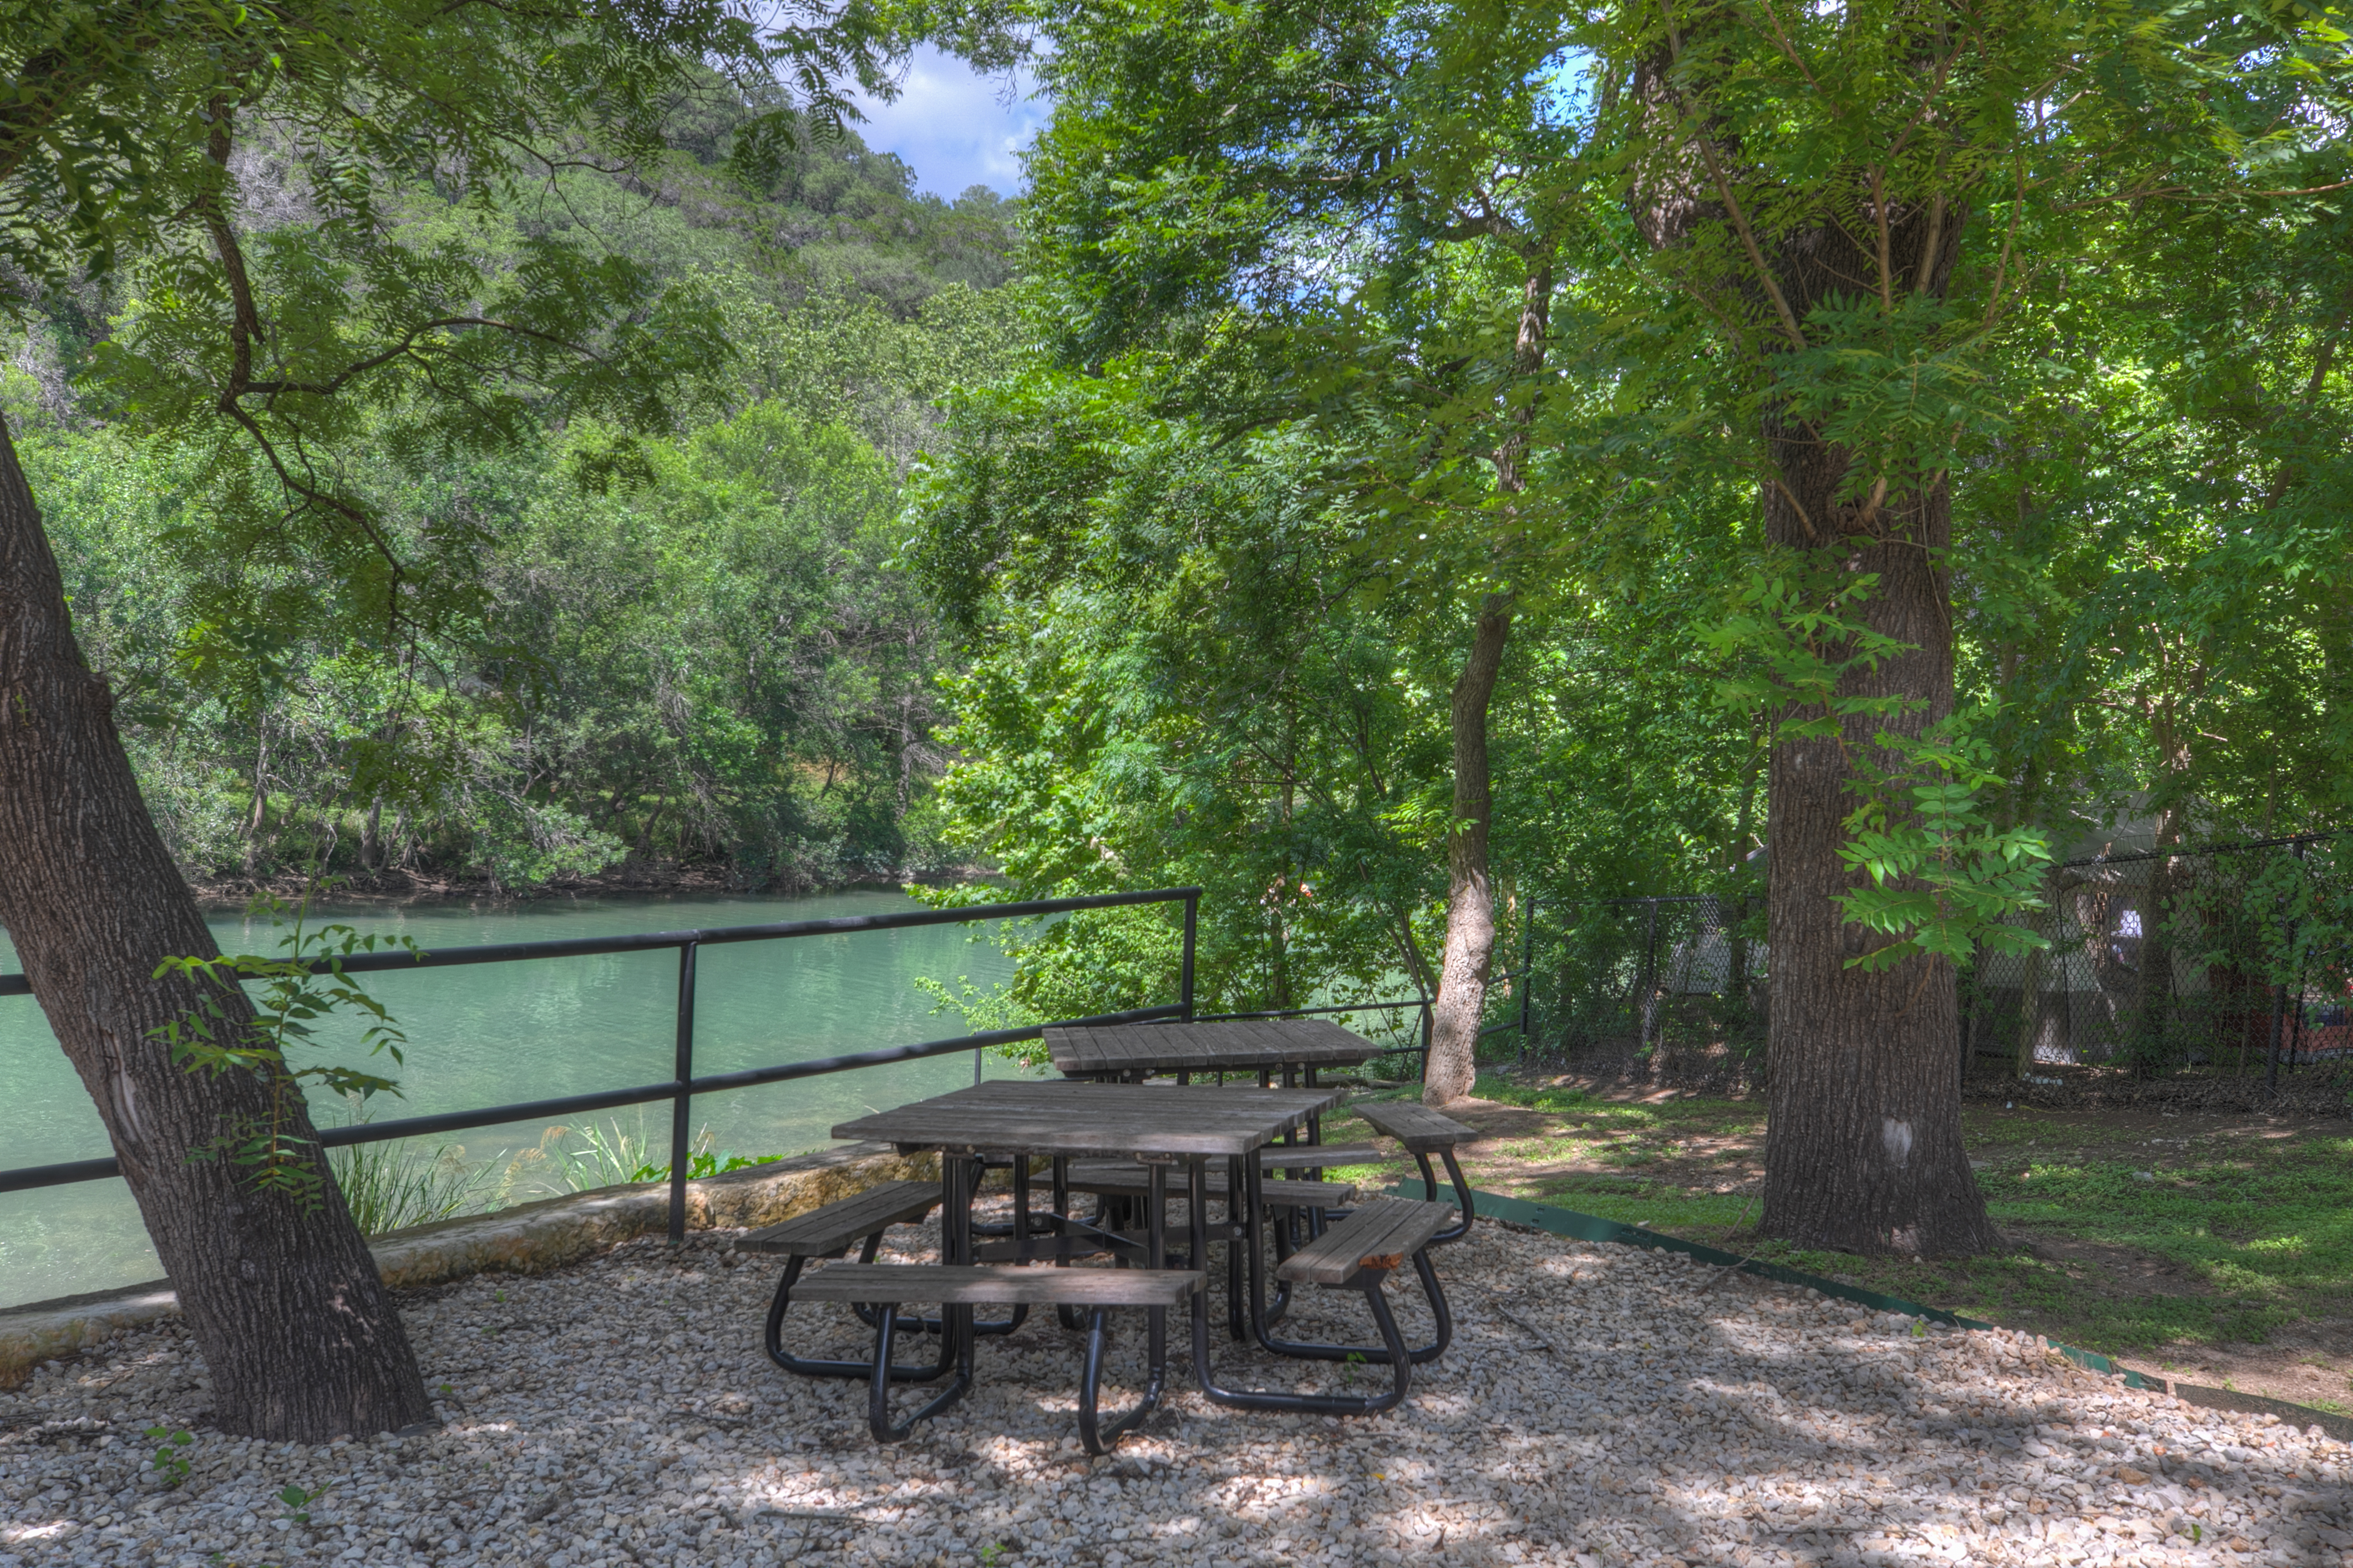
[[[496,205],[372,188],[393,294],[527,313],[562,280],[598,322],[593,362],[459,336],[402,371],[478,414],[273,402],[256,444],[174,369],[221,355],[186,268],[52,280],[9,414],[193,872],[1198,882],[1209,999],[1426,987],[1447,693],[1494,595],[1506,926],[1755,891],[1777,724],[1854,717],[1840,682],[1887,654],[1868,581],[1767,541],[1779,418],[1849,454],[1838,527],[1953,508],[1958,715],[1854,802],[1882,957],[1967,954],[2040,853],[2344,820],[2339,12],[906,16],[1049,45],[1019,237],[998,197],[913,197],[856,139],[786,136],[786,96],[682,68],[614,110],[628,158]],[[821,122],[802,99],[786,120]],[[358,266],[299,129],[233,162],[282,303]],[[1885,242],[1887,193],[1948,214],[1951,275],[1882,261],[1800,320],[1765,254]],[[393,324],[336,310],[289,362]],[[334,458],[287,515],[268,463],[304,418]],[[1160,917],[1087,917],[969,1006],[1172,973]]]

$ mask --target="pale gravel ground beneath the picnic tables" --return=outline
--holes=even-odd
[[[409,1300],[445,1399],[431,1436],[212,1432],[169,1326],[52,1363],[0,1394],[0,1563],[2353,1566],[2353,1453],[2318,1427],[2129,1394],[2024,1335],[1915,1335],[1489,1222],[1440,1253],[1454,1349],[1386,1418],[1221,1410],[1179,1363],[1162,1415],[1089,1462],[1075,1335],[1042,1314],[984,1342],[965,1403],[885,1450],[861,1387],[767,1366],[772,1267],[732,1265],[725,1241]],[[812,1349],[861,1342],[845,1307],[802,1312]],[[1353,1295],[1299,1316],[1367,1335]],[[1115,1366],[1139,1349],[1120,1335]],[[1228,1382],[1386,1378],[1219,1354]],[[141,1436],[158,1425],[193,1432],[176,1486]]]

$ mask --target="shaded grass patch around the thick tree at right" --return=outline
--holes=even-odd
[[[1497,1143],[1466,1161],[1473,1185],[2089,1349],[2261,1345],[2353,1300],[2353,1138],[2341,1124],[1969,1107],[1988,1211],[2031,1251],[1899,1262],[1753,1239],[1755,1185],[1741,1166],[1762,1164],[1760,1103],[1624,1103],[1499,1079],[1475,1093],[1537,1112],[1541,1126],[1482,1117]],[[1341,1126],[1329,1135],[1369,1131]],[[1348,1175],[1374,1185],[1407,1171]]]

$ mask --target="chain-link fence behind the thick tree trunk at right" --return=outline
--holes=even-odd
[[[1962,1063],[2249,1077],[2353,1067],[2353,839],[2273,839],[2071,860],[2019,922],[2045,947],[1962,973]],[[1522,931],[1520,1041],[1544,1058],[1640,1063],[1671,1081],[1765,1063],[1765,900],[1678,896],[1537,905]]]

